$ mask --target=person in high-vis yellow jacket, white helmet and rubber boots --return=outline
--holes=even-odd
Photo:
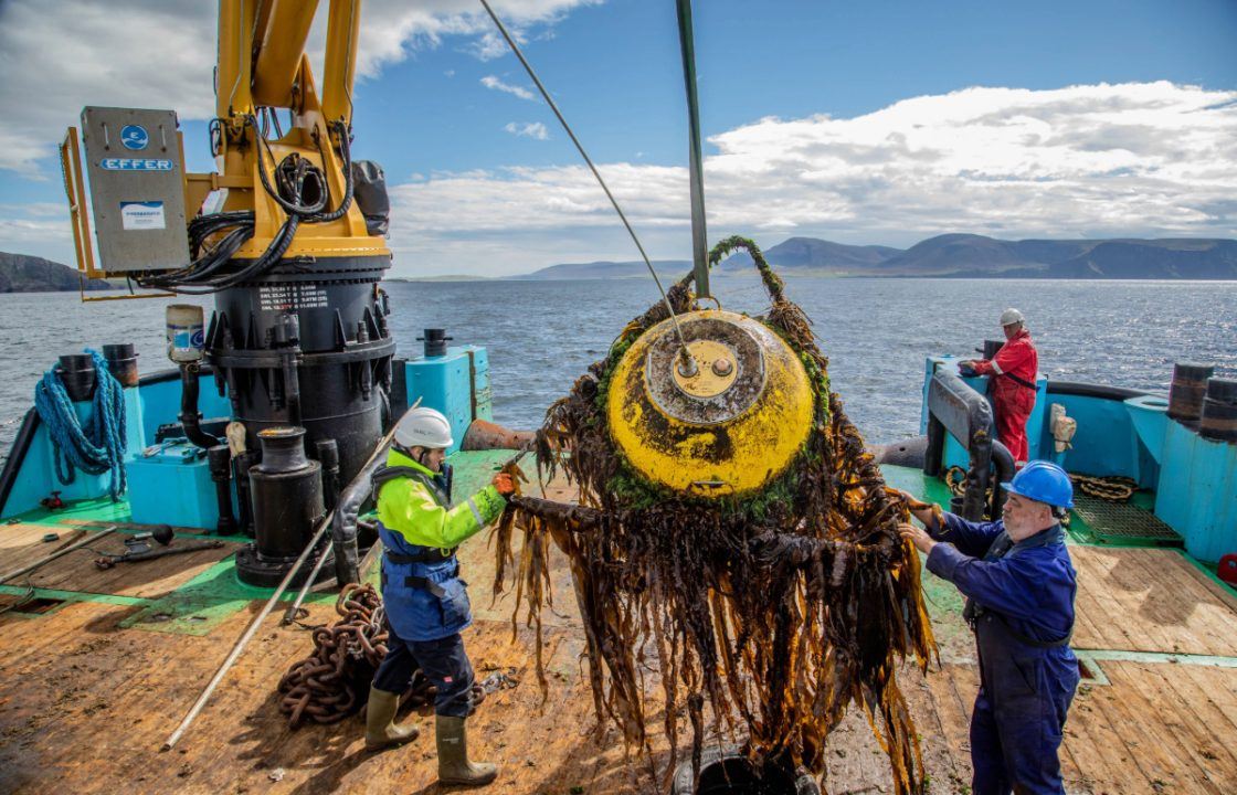
[[[464,723],[471,710],[473,666],[460,631],[473,623],[473,613],[455,550],[499,518],[515,485],[500,474],[452,504],[450,471],[443,464],[452,444],[450,423],[442,413],[414,408],[400,420],[386,466],[374,475],[391,633],[370,689],[365,746],[380,750],[417,738],[416,727],[401,726],[395,717],[400,694],[419,668],[438,689],[439,780],[482,785],[496,778],[497,768],[468,755]]]

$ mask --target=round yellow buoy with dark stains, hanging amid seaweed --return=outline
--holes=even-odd
[[[641,475],[693,496],[741,495],[781,475],[811,429],[813,391],[799,357],[752,318],[720,309],[679,317],[695,367],[663,320],[615,367],[607,420]]]

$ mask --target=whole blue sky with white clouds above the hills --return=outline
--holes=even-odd
[[[494,6],[649,255],[690,258],[674,0]],[[0,251],[72,263],[56,146],[85,105],[176,110],[213,169],[215,7],[0,0]],[[710,241],[1237,237],[1237,0],[694,16]],[[637,258],[479,1],[365,0],[360,51],[354,156],[386,172],[393,276]]]

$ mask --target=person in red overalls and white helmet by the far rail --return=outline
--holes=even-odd
[[[1027,462],[1027,418],[1035,408],[1035,377],[1039,375],[1039,352],[1030,341],[1025,319],[1017,309],[1001,313],[1006,344],[991,360],[959,362],[977,376],[992,378],[992,408],[996,412],[997,438],[1018,466]]]

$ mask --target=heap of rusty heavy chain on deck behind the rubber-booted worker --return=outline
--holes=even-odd
[[[329,627],[314,627],[313,654],[292,665],[280,680],[280,711],[288,726],[299,728],[307,720],[338,723],[361,708],[357,690],[372,679],[387,653],[386,608],[372,585],[344,586],[335,601],[341,617]],[[433,701],[437,690],[418,670],[401,699],[402,705],[421,706]],[[473,685],[473,707],[486,691]]]

